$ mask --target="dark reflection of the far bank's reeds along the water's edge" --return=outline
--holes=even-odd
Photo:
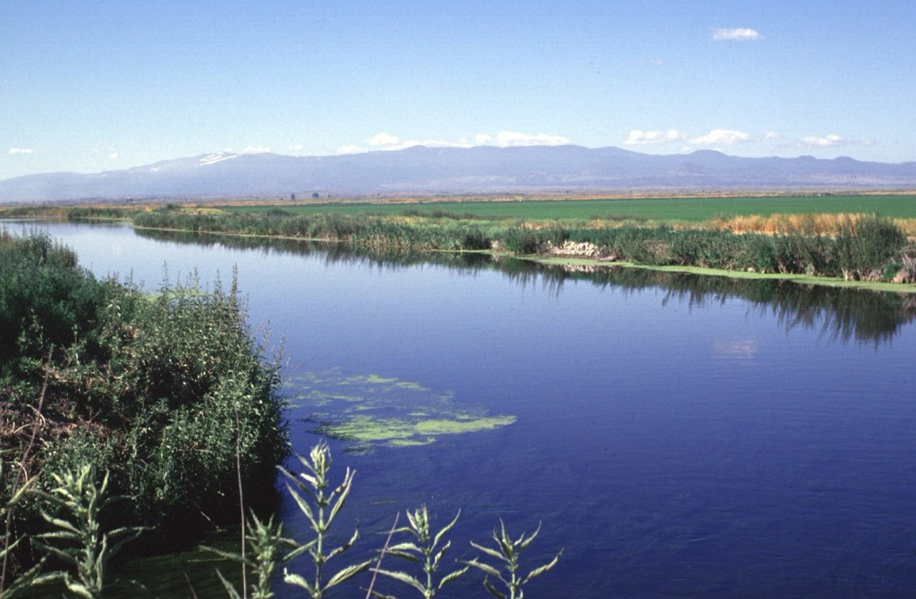
[[[370,265],[397,271],[419,264],[456,268],[464,273],[498,270],[522,286],[542,286],[560,294],[567,281],[589,281],[623,291],[664,289],[663,304],[671,299],[688,306],[743,299],[751,310],[774,314],[787,330],[820,330],[832,340],[888,343],[901,325],[916,318],[916,295],[861,289],[838,289],[786,280],[707,277],[644,268],[544,266],[529,260],[486,254],[354,252],[344,245],[213,234],[136,230],[150,239],[202,246],[256,249],[267,255],[323,256],[327,264]]]

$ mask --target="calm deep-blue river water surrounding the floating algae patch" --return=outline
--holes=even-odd
[[[497,517],[516,535],[542,521],[529,563],[565,550],[530,597],[916,594],[916,326],[899,299],[48,227],[82,266],[148,289],[164,265],[172,281],[237,267],[250,320],[285,341],[290,397],[316,378],[362,393],[387,381],[389,396],[423,389],[403,393],[408,411],[447,398],[517,417],[416,447],[332,440],[338,474],[357,471],[340,533],[358,522],[366,552],[425,504],[439,525],[462,509],[453,558],[473,557]],[[297,452],[319,439],[321,409],[294,400]],[[282,512],[302,534],[295,506]],[[443,594],[488,596],[476,577]]]

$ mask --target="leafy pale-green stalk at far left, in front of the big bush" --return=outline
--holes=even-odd
[[[36,493],[57,506],[61,515],[51,516],[45,510],[41,511],[42,517],[56,530],[38,535],[33,544],[69,564],[76,572],[51,572],[41,577],[42,582],[62,580],[72,594],[97,599],[111,585],[105,580],[108,562],[125,543],[136,539],[145,528],[102,531],[102,511],[114,501],[124,498],[108,495],[107,472],[101,484],[96,483],[95,469],[88,464],[62,474],[51,473],[51,476],[57,486],[50,493]],[[62,543],[62,546],[57,543]]]

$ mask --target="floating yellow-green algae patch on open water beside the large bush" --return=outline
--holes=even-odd
[[[493,430],[515,422],[454,398],[451,391],[341,369],[294,376],[290,404],[306,414],[312,432],[350,441],[347,451],[425,445],[445,435]]]

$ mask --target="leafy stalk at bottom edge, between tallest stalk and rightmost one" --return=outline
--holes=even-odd
[[[422,506],[414,512],[407,512],[409,526],[395,529],[396,533],[408,533],[413,536],[416,542],[411,540],[398,543],[397,545],[387,548],[387,553],[402,560],[412,561],[413,563],[422,565],[423,572],[426,574],[425,581],[420,581],[419,578],[407,572],[393,572],[388,570],[378,570],[377,572],[400,581],[401,583],[408,584],[420,591],[420,594],[422,594],[425,599],[431,599],[431,597],[435,596],[442,587],[448,583],[453,583],[461,577],[464,572],[470,569],[468,565],[459,570],[449,572],[442,576],[438,583],[434,578],[434,574],[439,571],[442,556],[445,555],[445,551],[452,545],[452,541],[447,541],[442,545],[442,548],[439,549],[439,542],[445,534],[453,528],[460,516],[461,510],[458,510],[458,513],[452,521],[433,535],[430,529],[430,514],[426,506]],[[395,599],[395,597],[390,595],[378,593],[373,593],[373,595],[382,599]]]

